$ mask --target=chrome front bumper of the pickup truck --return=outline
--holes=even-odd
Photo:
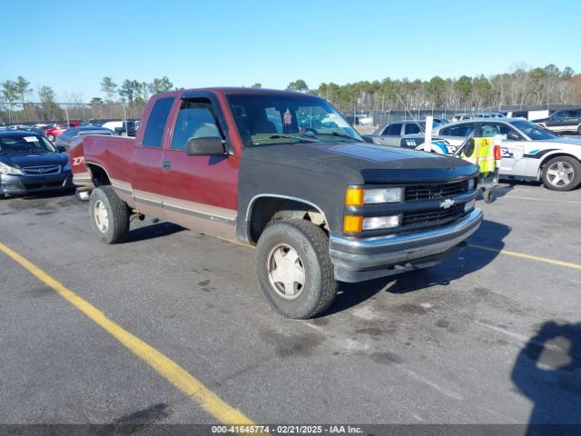
[[[330,237],[335,278],[360,282],[427,268],[458,253],[460,244],[478,230],[483,214],[475,209],[458,223],[423,233],[381,238]]]

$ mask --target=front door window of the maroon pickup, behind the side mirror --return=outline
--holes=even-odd
[[[219,137],[212,104],[208,99],[183,100],[172,135],[172,148],[184,149],[194,138]]]

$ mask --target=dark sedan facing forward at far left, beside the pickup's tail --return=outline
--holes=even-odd
[[[73,187],[62,152],[42,134],[0,132],[0,197]]]

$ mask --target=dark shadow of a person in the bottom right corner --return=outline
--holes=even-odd
[[[519,352],[511,379],[533,402],[528,436],[581,434],[581,323],[545,322]]]

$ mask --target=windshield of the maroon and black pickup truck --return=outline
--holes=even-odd
[[[246,146],[363,142],[335,108],[318,97],[231,94],[228,101]]]

